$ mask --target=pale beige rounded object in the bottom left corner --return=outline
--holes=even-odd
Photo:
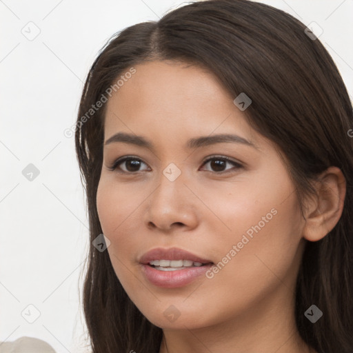
[[[0,342],[0,353],[56,353],[51,345],[34,337],[20,337],[13,342]]]

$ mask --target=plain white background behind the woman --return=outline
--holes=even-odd
[[[323,28],[319,39],[352,97],[353,0],[259,2]],[[0,341],[33,336],[58,353],[84,352],[79,274],[88,219],[74,137],[63,131],[76,121],[83,81],[105,41],[182,3],[0,0]],[[30,41],[23,32],[36,26]],[[39,170],[33,181],[22,174],[29,163]],[[21,316],[30,304],[40,312],[34,323]]]

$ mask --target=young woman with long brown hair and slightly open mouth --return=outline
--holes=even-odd
[[[76,131],[93,352],[352,352],[352,118],[319,39],[271,6],[114,36]]]

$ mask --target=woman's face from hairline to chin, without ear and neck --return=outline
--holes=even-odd
[[[134,68],[107,103],[97,192],[130,299],[154,325],[189,329],[294,305],[304,224],[274,145],[212,74],[166,61]],[[110,170],[121,157],[130,160]],[[144,256],[157,248],[203,261]],[[167,261],[141,263],[152,260]]]

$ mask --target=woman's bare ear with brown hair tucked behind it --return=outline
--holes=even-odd
[[[303,237],[319,241],[341,218],[345,201],[346,181],[341,170],[330,167],[315,181],[316,196],[307,201]]]

